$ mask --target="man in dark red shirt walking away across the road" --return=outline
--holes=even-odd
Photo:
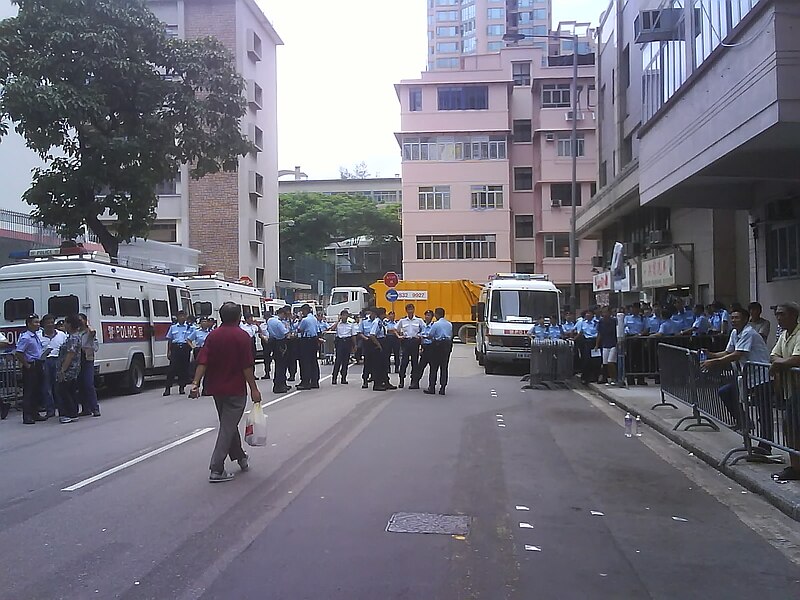
[[[242,309],[238,304],[226,302],[219,309],[219,316],[222,325],[208,334],[203,344],[189,393],[190,398],[197,398],[200,382],[205,377],[203,387],[207,394],[214,397],[217,407],[219,430],[208,477],[212,483],[233,479],[233,473],[225,470],[226,456],[237,461],[242,471],[249,468],[247,453],[242,448],[239,436],[239,421],[247,404],[248,387],[253,403],[261,402],[261,392],[258,391],[253,373],[253,344],[250,336],[239,327]]]

